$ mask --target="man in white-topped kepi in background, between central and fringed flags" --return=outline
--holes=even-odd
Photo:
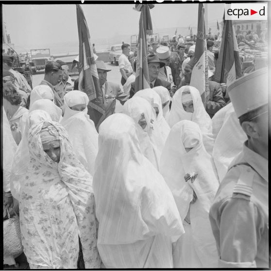
[[[168,46],[161,46],[156,49],[156,53],[159,57],[159,60],[165,63],[165,66],[160,68],[158,78],[161,80],[168,81],[171,86],[174,85],[171,68],[169,67],[171,63],[172,56],[169,51]]]

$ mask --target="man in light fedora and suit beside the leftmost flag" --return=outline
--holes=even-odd
[[[111,69],[108,69],[103,61],[96,61],[96,67],[102,90],[105,118],[107,118],[115,113],[116,99],[123,105],[128,100],[129,94],[125,94],[118,84],[107,81],[107,72]]]

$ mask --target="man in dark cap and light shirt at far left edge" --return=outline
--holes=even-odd
[[[17,87],[17,89],[22,89],[24,91],[31,92],[32,89],[30,85],[27,83],[26,78],[21,73],[12,68],[13,59],[14,57],[11,55],[3,55],[2,61],[3,70],[9,71],[14,75],[15,77],[14,85]]]

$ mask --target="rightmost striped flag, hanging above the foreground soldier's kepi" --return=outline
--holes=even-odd
[[[230,85],[241,76],[241,63],[233,21],[224,20],[224,28],[214,81]]]

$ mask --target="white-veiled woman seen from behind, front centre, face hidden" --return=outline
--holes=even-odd
[[[120,113],[99,128],[93,177],[98,250],[106,268],[172,268],[171,241],[184,233],[183,225],[136,134],[133,119]]]

